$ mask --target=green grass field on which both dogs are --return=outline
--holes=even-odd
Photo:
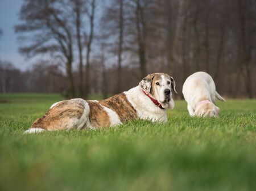
[[[0,190],[256,190],[256,100],[166,124],[23,135],[58,95],[0,95]]]

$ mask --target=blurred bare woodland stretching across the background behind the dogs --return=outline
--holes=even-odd
[[[37,59],[25,72],[0,61],[1,92],[106,96],[159,71],[181,92],[207,71],[222,95],[256,95],[254,0],[24,0],[15,31]]]

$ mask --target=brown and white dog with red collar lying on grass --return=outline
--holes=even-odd
[[[71,99],[53,104],[25,133],[44,130],[97,129],[128,120],[167,121],[167,108],[174,108],[171,89],[174,78],[164,73],[149,74],[139,86],[105,100]]]

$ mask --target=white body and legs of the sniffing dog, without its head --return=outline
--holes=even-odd
[[[182,93],[188,104],[188,112],[191,116],[195,114],[197,103],[208,99],[214,105],[216,101],[216,87],[212,77],[209,74],[199,71],[190,75],[183,84]],[[218,108],[216,107],[218,110]],[[217,115],[217,113],[216,113]]]

